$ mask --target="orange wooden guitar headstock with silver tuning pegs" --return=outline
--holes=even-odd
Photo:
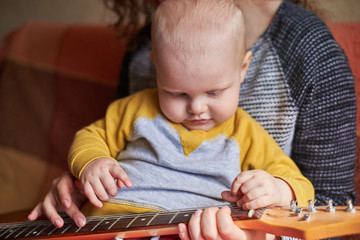
[[[240,228],[257,229],[277,236],[320,239],[360,233],[360,206],[268,207],[259,220],[239,221]]]

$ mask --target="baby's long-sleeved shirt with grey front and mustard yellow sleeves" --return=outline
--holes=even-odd
[[[314,197],[310,181],[245,111],[239,108],[209,131],[189,131],[161,113],[155,89],[115,101],[105,118],[76,134],[69,154],[74,176],[100,157],[117,160],[133,182],[111,200],[122,206],[171,210],[224,204],[221,192],[250,169],[285,180],[300,204]]]

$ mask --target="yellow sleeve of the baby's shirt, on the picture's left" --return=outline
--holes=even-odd
[[[115,160],[126,146],[135,120],[156,114],[156,100],[157,92],[146,90],[110,104],[103,119],[75,134],[68,155],[70,172],[80,178],[83,169],[91,161],[101,157]]]

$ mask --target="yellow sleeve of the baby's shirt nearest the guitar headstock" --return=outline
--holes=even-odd
[[[265,129],[243,110],[239,110],[237,123],[242,171],[262,169],[281,178],[292,188],[299,205],[314,199],[314,187],[305,178],[295,162],[279,147]],[[289,203],[290,204],[290,203]]]

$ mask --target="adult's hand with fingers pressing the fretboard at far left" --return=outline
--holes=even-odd
[[[76,225],[85,226],[86,218],[80,212],[79,206],[87,199],[81,188],[81,184],[69,172],[64,173],[53,181],[50,191],[31,211],[28,219],[34,221],[45,215],[57,228],[61,228],[64,220],[59,213],[65,212]]]

